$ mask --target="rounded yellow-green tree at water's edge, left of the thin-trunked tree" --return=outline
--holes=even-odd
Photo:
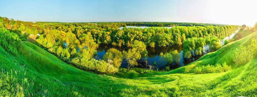
[[[105,55],[103,56],[103,59],[105,61],[112,60],[111,64],[113,64],[113,66],[120,67],[123,59],[123,54],[121,53],[121,51],[115,48],[111,48],[106,51]]]

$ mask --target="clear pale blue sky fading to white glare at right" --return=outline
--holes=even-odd
[[[0,16],[22,21],[156,21],[253,26],[255,0],[0,0]]]

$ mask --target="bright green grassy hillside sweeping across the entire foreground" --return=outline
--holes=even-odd
[[[0,47],[0,96],[255,96],[257,59],[241,67],[232,61],[235,48],[249,45],[252,38],[257,38],[257,32],[185,67],[146,74],[132,70],[124,73],[126,78],[82,71],[30,42],[22,42],[17,56]],[[225,61],[231,71],[187,72]]]

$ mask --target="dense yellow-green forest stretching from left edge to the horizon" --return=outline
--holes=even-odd
[[[215,45],[219,38],[231,35],[239,29],[239,26],[234,25],[210,26],[210,24],[199,23],[178,23],[174,25],[179,26],[170,29],[162,27],[119,29],[119,27],[134,24],[142,26],[141,22],[32,23],[0,17],[0,27],[17,34],[22,41],[32,42],[82,70],[99,73],[117,72],[123,58],[129,63],[128,69],[136,66],[138,59],[147,56],[146,46],[185,44],[184,48],[190,48],[185,50],[188,58],[201,54],[204,45],[209,45],[210,49],[215,51],[220,47]],[[173,25],[155,22],[146,24]],[[189,24],[190,27],[185,27]],[[197,42],[202,44],[198,45]],[[191,45],[192,43],[194,45]],[[123,52],[115,49],[109,50],[105,55],[105,60],[98,61],[92,59],[98,44],[128,46],[131,49]]]

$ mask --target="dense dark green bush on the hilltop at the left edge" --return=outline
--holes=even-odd
[[[17,55],[17,49],[21,47],[21,40],[18,35],[9,30],[0,28],[0,45],[13,55]]]

